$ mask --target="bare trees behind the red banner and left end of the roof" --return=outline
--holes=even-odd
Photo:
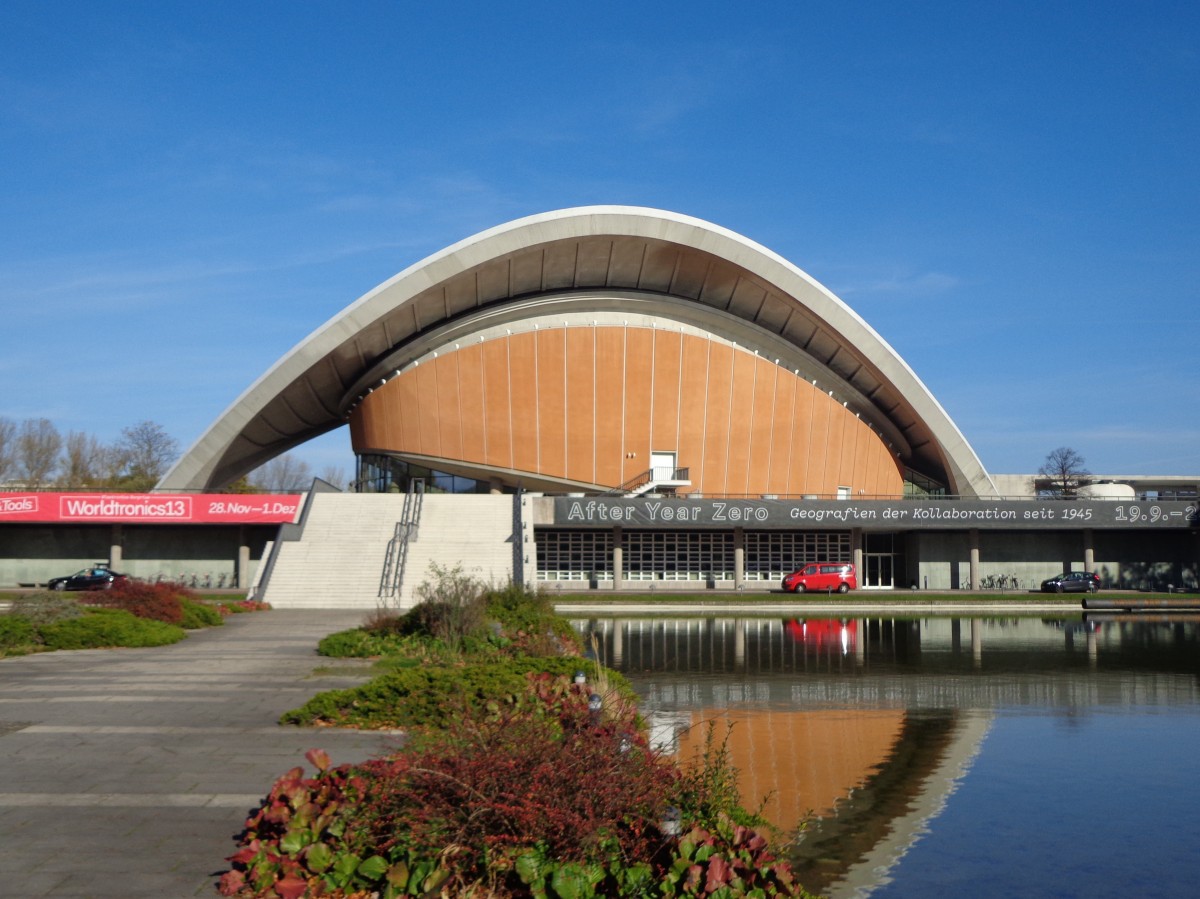
[[[13,421],[0,416],[0,486],[23,490],[59,487],[139,493],[151,490],[179,459],[179,442],[155,421],[121,428],[112,443],[95,434],[66,434],[46,418]],[[320,475],[344,489],[346,475],[329,468]],[[233,492],[307,490],[313,473],[292,454],[276,456],[232,484]]]

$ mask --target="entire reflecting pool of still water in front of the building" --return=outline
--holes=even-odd
[[[1200,616],[575,625],[665,749],[718,725],[812,892],[1200,889]]]

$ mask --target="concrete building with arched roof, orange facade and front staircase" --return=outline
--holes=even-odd
[[[768,588],[818,559],[884,589],[1200,569],[1200,479],[1069,507],[997,483],[845,302],[661,210],[536,215],[401,271],[275,362],[158,492],[218,491],[343,426],[354,492],[314,491],[281,533],[298,539],[250,552],[272,603],[406,604],[434,563],[595,589]]]

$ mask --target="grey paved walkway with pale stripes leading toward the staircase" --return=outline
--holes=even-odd
[[[175,646],[0,659],[0,895],[217,895],[234,835],[305,751],[337,765],[396,744],[276,725],[366,679],[316,654],[362,616],[238,615]]]

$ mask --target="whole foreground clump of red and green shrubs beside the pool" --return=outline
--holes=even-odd
[[[682,838],[665,831],[678,768],[650,750],[632,706],[598,715],[588,691],[532,676],[512,706],[392,757],[330,768],[310,751],[317,774],[275,784],[222,894],[806,895],[724,814],[685,821]]]

